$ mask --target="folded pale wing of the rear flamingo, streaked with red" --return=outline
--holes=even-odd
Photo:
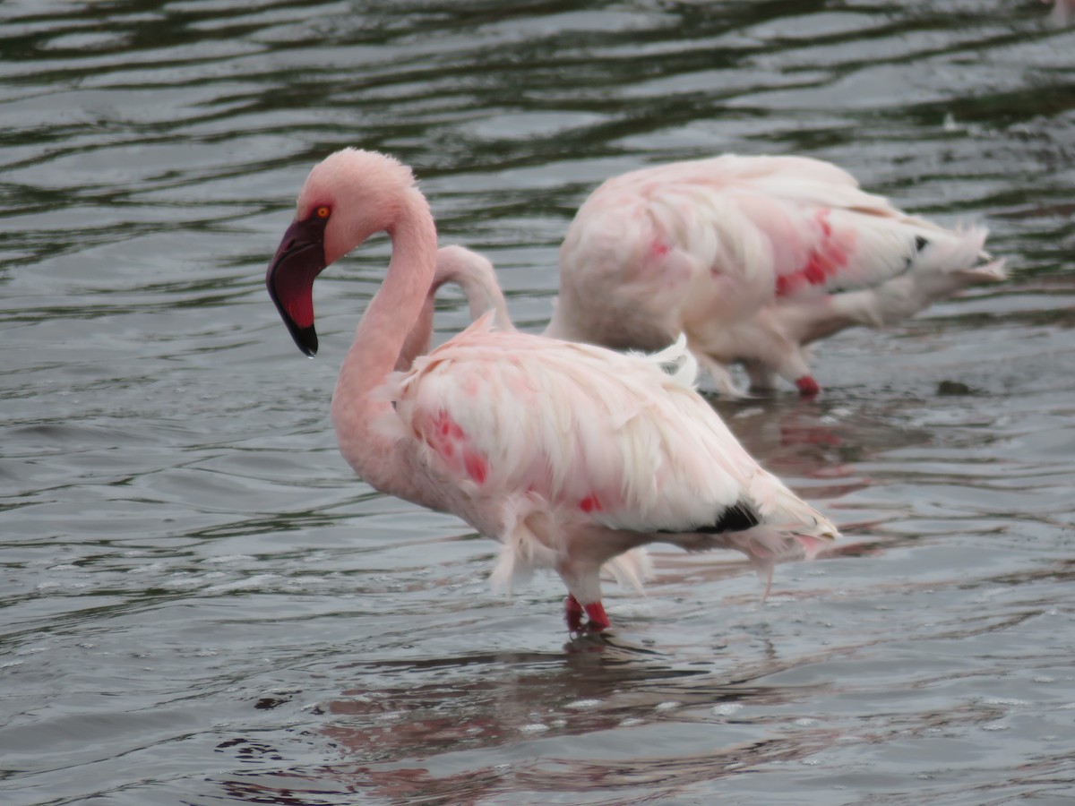
[[[773,298],[876,287],[934,240],[954,238],[831,163],[723,155],[605,182],[572,222],[561,258],[572,283],[616,267],[592,283],[607,287],[615,270],[618,284],[665,312],[691,304],[706,278],[703,293],[742,314]]]

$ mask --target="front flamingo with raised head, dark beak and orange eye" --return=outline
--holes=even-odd
[[[313,283],[376,232],[391,239],[332,395],[340,450],[382,492],[455,514],[501,543],[496,587],[538,568],[563,580],[571,630],[610,627],[603,566],[669,543],[776,560],[814,556],[836,528],[764,471],[656,357],[498,331],[492,314],[393,371],[436,264],[436,228],[408,168],[346,148],[316,164],[266,273],[296,344],[317,351]],[[673,348],[685,354],[683,342]],[[685,371],[693,372],[687,362]],[[632,581],[637,582],[637,579]]]

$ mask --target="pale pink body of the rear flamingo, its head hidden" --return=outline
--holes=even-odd
[[[687,344],[721,391],[775,375],[819,387],[806,345],[880,327],[977,283],[1004,278],[981,227],[946,230],[804,157],[739,157],[646,168],[608,179],[560,247],[547,335],[616,349]]]

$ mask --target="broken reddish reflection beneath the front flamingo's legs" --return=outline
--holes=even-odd
[[[625,787],[645,788],[669,776],[689,783],[711,765],[726,774],[765,760],[799,758],[809,752],[803,745],[792,747],[732,747],[716,753],[679,757],[657,755],[632,759],[629,763],[593,763],[555,755],[539,761],[526,752],[519,761],[493,765],[485,773],[473,769],[445,773],[450,759],[481,755],[483,749],[505,744],[568,747],[573,737],[604,731],[646,730],[646,719],[659,723],[673,711],[705,708],[708,718],[691,721],[721,721],[745,706],[765,706],[808,696],[812,688],[782,690],[751,686],[751,673],[769,674],[779,665],[741,670],[736,680],[722,680],[690,668],[673,668],[668,660],[644,647],[632,647],[616,637],[574,638],[559,656],[494,656],[439,659],[413,664],[353,666],[358,677],[429,676],[444,679],[433,685],[401,686],[383,690],[353,690],[319,705],[316,714],[330,715],[321,735],[343,760],[317,771],[292,769],[278,782],[280,774],[252,774],[223,782],[233,795],[270,798],[271,803],[302,802],[301,798],[329,791],[366,791],[385,798],[413,798],[422,793],[445,803],[481,803],[490,795],[513,791],[619,791]],[[517,675],[518,668],[529,670]],[[676,717],[680,719],[682,717]],[[227,743],[226,743],[227,744]],[[241,752],[264,754],[241,743]],[[772,743],[770,743],[772,744]],[[782,745],[790,743],[779,743]],[[544,757],[543,752],[539,754]],[[430,764],[430,757],[435,761]],[[449,759],[445,761],[445,759]],[[734,763],[732,763],[734,762]],[[434,772],[435,769],[435,772]],[[633,771],[633,772],[631,772]],[[546,775],[548,773],[548,775]],[[686,778],[684,778],[686,776]],[[673,789],[674,791],[674,789]],[[272,800],[275,798],[275,800]],[[440,801],[439,801],[440,802]]]

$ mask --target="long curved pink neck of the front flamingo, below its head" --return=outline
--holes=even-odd
[[[370,301],[340,368],[332,395],[332,422],[340,451],[362,478],[386,492],[412,498],[407,474],[399,466],[396,437],[376,428],[377,418],[391,413],[391,403],[376,400],[371,393],[395,369],[433,280],[436,228],[429,205],[417,190],[405,197],[388,234],[392,258],[385,282]]]

